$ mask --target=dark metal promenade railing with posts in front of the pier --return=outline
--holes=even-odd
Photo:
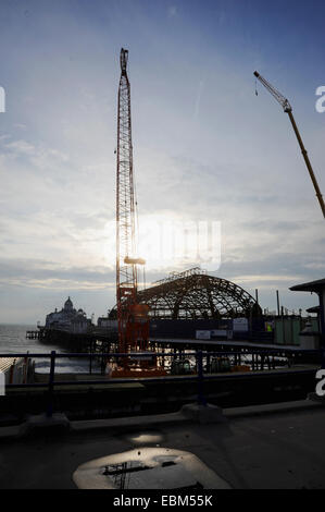
[[[148,355],[154,356],[162,362],[164,362],[164,358],[171,357],[175,358],[178,361],[185,361],[189,358],[195,358],[196,364],[191,366],[193,373],[190,375],[173,375],[170,374],[167,376],[162,376],[162,377],[128,377],[128,378],[105,378],[105,379],[96,379],[96,380],[54,380],[55,377],[55,361],[57,358],[89,358],[90,359],[90,367],[91,367],[91,356],[93,357],[93,354],[91,353],[57,353],[55,351],[52,351],[51,353],[46,353],[46,354],[39,354],[39,353],[17,353],[17,354],[0,354],[0,359],[4,357],[28,357],[28,358],[50,358],[50,371],[49,371],[49,380],[47,383],[47,394],[48,394],[48,401],[47,401],[47,416],[52,416],[53,414],[53,391],[55,386],[82,386],[82,385],[110,385],[110,383],[125,383],[129,381],[136,381],[136,382],[154,382],[154,381],[163,381],[163,380],[192,380],[197,381],[197,394],[198,394],[198,403],[201,405],[207,405],[207,399],[204,397],[204,388],[203,383],[204,380],[208,379],[214,379],[216,374],[209,374],[211,369],[211,358],[213,357],[220,357],[220,358],[232,358],[230,361],[230,367],[233,363],[233,367],[237,366],[241,363],[249,363],[250,366],[252,367],[253,370],[263,370],[265,365],[267,365],[268,369],[273,369],[273,374],[282,374],[283,371],[276,370],[276,359],[275,357],[283,357],[287,358],[287,363],[283,364],[282,366],[292,366],[292,362],[297,356],[300,355],[305,355],[310,354],[312,356],[318,356],[322,358],[322,365],[325,367],[325,351],[324,350],[311,350],[311,351],[289,351],[289,350],[247,350],[246,353],[242,352],[235,352],[235,351],[227,351],[227,352],[202,352],[202,351],[197,351],[197,352],[183,352],[183,353],[166,353],[166,352],[133,352],[127,354],[128,356],[136,357],[138,359],[146,358]],[[102,358],[107,359],[112,359],[112,358],[125,358],[124,353],[100,353],[100,356]],[[245,361],[245,356],[251,356],[250,361]],[[272,359],[270,361],[270,357]],[[258,361],[259,359],[259,361]],[[204,367],[204,361],[205,361],[205,367]],[[283,362],[284,363],[284,362]],[[303,371],[303,369],[301,370]],[[305,369],[305,371],[310,371],[309,369]],[[226,375],[225,378],[249,378],[254,371],[247,371],[247,374],[236,374],[232,373],[232,375]],[[57,374],[58,375],[58,374]],[[100,374],[102,375],[102,373]],[[43,388],[46,383],[43,382],[34,382],[34,383],[17,383],[17,385],[7,385],[7,388]]]

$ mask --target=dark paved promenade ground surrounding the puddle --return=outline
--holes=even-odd
[[[179,419],[179,418],[178,418]],[[125,422],[124,422],[125,428]],[[79,464],[135,447],[195,453],[234,488],[325,489],[325,407],[232,416],[226,424],[138,425],[0,441],[0,488],[76,488]]]

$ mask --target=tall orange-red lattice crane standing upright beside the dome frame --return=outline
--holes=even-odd
[[[149,307],[137,303],[137,266],[145,265],[145,260],[135,256],[136,211],[127,59],[128,51],[122,48],[116,150],[116,303],[121,353],[146,350],[149,337]]]

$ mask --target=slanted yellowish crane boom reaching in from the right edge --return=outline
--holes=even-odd
[[[299,143],[299,146],[300,146],[300,149],[301,149],[303,159],[304,159],[304,161],[305,161],[308,171],[309,171],[310,176],[311,176],[311,180],[312,180],[312,182],[313,182],[313,185],[314,185],[314,188],[315,188],[315,193],[316,193],[316,196],[317,196],[317,199],[318,199],[318,203],[320,203],[320,206],[321,206],[323,216],[324,216],[324,218],[325,218],[325,204],[324,204],[324,199],[323,199],[323,196],[322,196],[322,194],[321,194],[321,190],[320,190],[317,180],[316,180],[316,178],[315,178],[313,168],[312,168],[312,166],[311,166],[311,162],[310,162],[308,153],[307,153],[305,147],[304,147],[304,145],[303,145],[303,143],[302,143],[302,138],[301,138],[301,135],[300,135],[300,133],[299,133],[298,126],[297,126],[297,124],[296,124],[296,121],[295,121],[295,118],[293,118],[293,114],[292,114],[292,107],[291,107],[289,100],[288,100],[287,98],[285,98],[278,90],[276,90],[276,88],[273,87],[273,85],[271,85],[265,78],[263,78],[263,76],[261,76],[260,73],[258,73],[257,71],[254,71],[254,75],[255,75],[255,77],[264,85],[264,87],[268,90],[268,93],[271,93],[272,96],[279,102],[279,105],[283,107],[284,111],[289,115],[289,119],[290,119],[290,121],[291,121],[291,124],[292,124],[295,134],[296,134],[296,136],[297,136],[297,139],[298,139],[298,143]]]

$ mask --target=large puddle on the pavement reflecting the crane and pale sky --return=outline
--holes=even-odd
[[[73,474],[79,489],[229,489],[190,452],[139,448],[82,464]]]

